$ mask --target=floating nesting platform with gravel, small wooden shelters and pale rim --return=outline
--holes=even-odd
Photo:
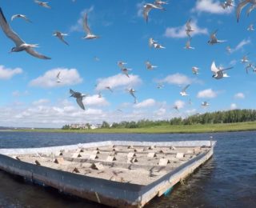
[[[92,142],[0,149],[0,169],[94,202],[142,207],[208,160],[216,142]]]

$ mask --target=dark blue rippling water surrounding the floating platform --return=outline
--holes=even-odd
[[[214,136],[214,157],[149,207],[256,207],[256,131],[215,134],[60,134],[0,132],[0,148],[70,145],[106,140],[182,141]],[[0,171],[0,206],[103,207],[34,186]]]

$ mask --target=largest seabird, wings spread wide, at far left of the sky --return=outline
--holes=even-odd
[[[10,38],[16,45],[11,49],[10,52],[19,52],[19,51],[25,50],[26,53],[36,58],[50,59],[49,57],[46,57],[42,54],[38,54],[38,52],[33,49],[35,47],[38,47],[38,44],[28,44],[18,37],[18,34],[16,34],[14,30],[10,28],[8,22],[6,21],[6,18],[2,13],[1,7],[0,7],[0,25],[2,27],[3,32],[6,34],[6,36]]]

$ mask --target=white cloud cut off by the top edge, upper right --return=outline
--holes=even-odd
[[[224,10],[221,6],[221,2],[216,0],[197,0],[193,12],[206,12],[210,14],[230,14],[234,8],[232,6],[230,9]]]

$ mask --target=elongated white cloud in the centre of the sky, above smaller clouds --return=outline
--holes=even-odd
[[[99,78],[96,90],[106,90],[106,86],[110,86],[112,89],[119,86],[137,86],[140,83],[142,83],[142,80],[138,77],[138,75],[130,74],[130,78],[127,78],[125,74],[116,74],[108,78]]]

